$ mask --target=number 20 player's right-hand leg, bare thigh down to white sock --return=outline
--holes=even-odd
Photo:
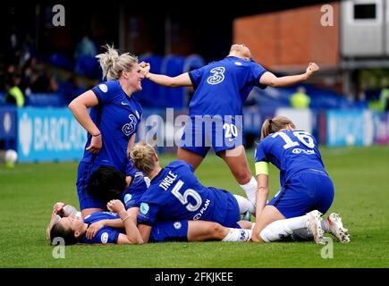
[[[249,169],[249,163],[246,157],[246,151],[244,147],[238,146],[230,150],[221,151],[217,154],[222,157],[224,162],[228,164],[233,177],[241,186],[249,198],[249,201],[255,206],[256,204],[256,191],[257,191],[257,180],[252,176]]]

